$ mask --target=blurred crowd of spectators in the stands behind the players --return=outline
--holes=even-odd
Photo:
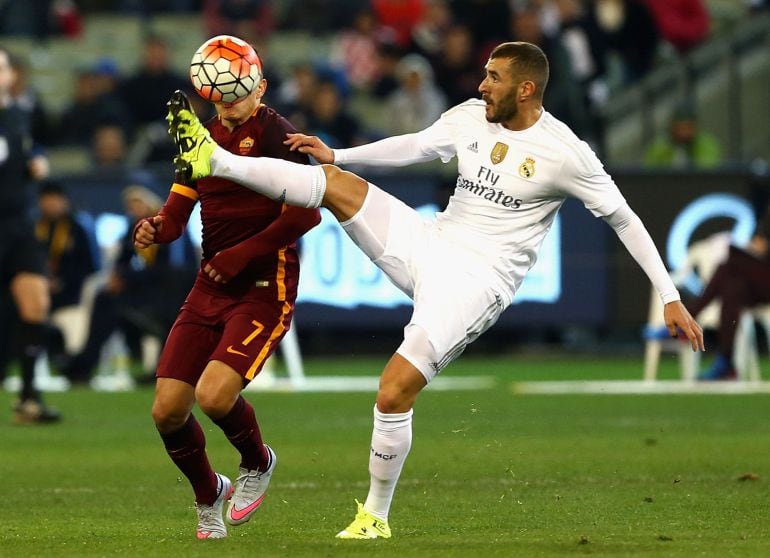
[[[0,40],[13,50],[14,36],[33,37],[39,52],[53,37],[78,41],[95,14],[199,15],[193,44],[221,33],[255,44],[266,62],[267,102],[333,146],[422,129],[477,96],[495,44],[529,41],[551,62],[546,107],[602,151],[602,107],[613,94],[767,7],[765,0],[47,0],[0,3]],[[271,39],[297,32],[321,37],[328,49],[286,67]],[[170,52],[179,37],[156,26],[143,43],[132,68],[110,56],[75,65],[72,92],[57,92],[66,97],[58,110],[30,86],[30,52],[17,52],[17,97],[33,113],[40,143],[88,149],[95,170],[166,162],[170,145],[156,126],[169,91],[189,83]]]

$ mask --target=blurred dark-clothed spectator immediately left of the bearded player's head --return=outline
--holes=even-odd
[[[432,64],[436,85],[446,94],[450,106],[478,97],[479,64],[468,27],[456,24],[446,30]]]

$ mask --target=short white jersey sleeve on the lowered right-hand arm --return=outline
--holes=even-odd
[[[567,195],[582,201],[595,217],[611,215],[626,203],[615,181],[584,141],[569,146],[557,181]]]

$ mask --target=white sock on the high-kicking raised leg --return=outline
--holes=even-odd
[[[300,165],[269,157],[239,157],[221,147],[211,155],[211,174],[298,207],[321,207],[326,192],[326,174],[320,165]]]

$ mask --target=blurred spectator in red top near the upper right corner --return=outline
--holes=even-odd
[[[660,36],[678,52],[687,52],[708,38],[711,26],[703,0],[644,0]]]

